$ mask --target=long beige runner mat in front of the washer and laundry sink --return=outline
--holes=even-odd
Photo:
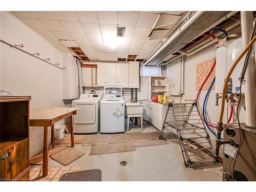
[[[108,143],[119,143],[125,141],[141,141],[158,139],[160,134],[158,132],[134,132],[134,133],[119,133],[119,134],[97,134],[87,135],[83,140],[83,145],[91,144],[108,144]]]

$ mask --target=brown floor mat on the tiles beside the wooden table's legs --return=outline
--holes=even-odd
[[[83,155],[84,153],[79,152],[72,147],[69,147],[66,148],[66,150],[51,155],[50,157],[62,165],[68,165],[73,161],[79,159]]]

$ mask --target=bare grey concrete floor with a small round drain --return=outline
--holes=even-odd
[[[131,125],[130,132],[140,132],[138,126]],[[156,131],[145,125],[143,132]],[[75,148],[85,155],[68,166],[80,166],[82,170],[99,168],[102,181],[222,181],[221,164],[217,167],[193,169],[183,163],[177,139],[167,140],[169,144],[137,147],[136,151],[116,154],[89,156],[91,146],[76,144]],[[120,162],[127,165],[121,166]],[[49,166],[63,166],[55,160]]]

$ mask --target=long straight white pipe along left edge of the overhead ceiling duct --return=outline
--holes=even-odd
[[[174,33],[166,42],[165,44],[158,49],[150,58],[148,58],[148,60],[143,63],[143,66],[147,65],[148,62],[150,62],[153,58],[155,58],[164,48],[166,48],[170,42],[172,42],[175,38],[177,38],[187,27],[189,27],[193,22],[195,22],[195,20],[200,17],[202,14],[204,13],[204,11],[198,11],[196,12],[183,26],[180,27],[180,29]]]

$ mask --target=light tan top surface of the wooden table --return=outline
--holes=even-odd
[[[75,112],[79,108],[52,107],[37,109],[30,112],[30,120],[53,120],[63,115]]]

